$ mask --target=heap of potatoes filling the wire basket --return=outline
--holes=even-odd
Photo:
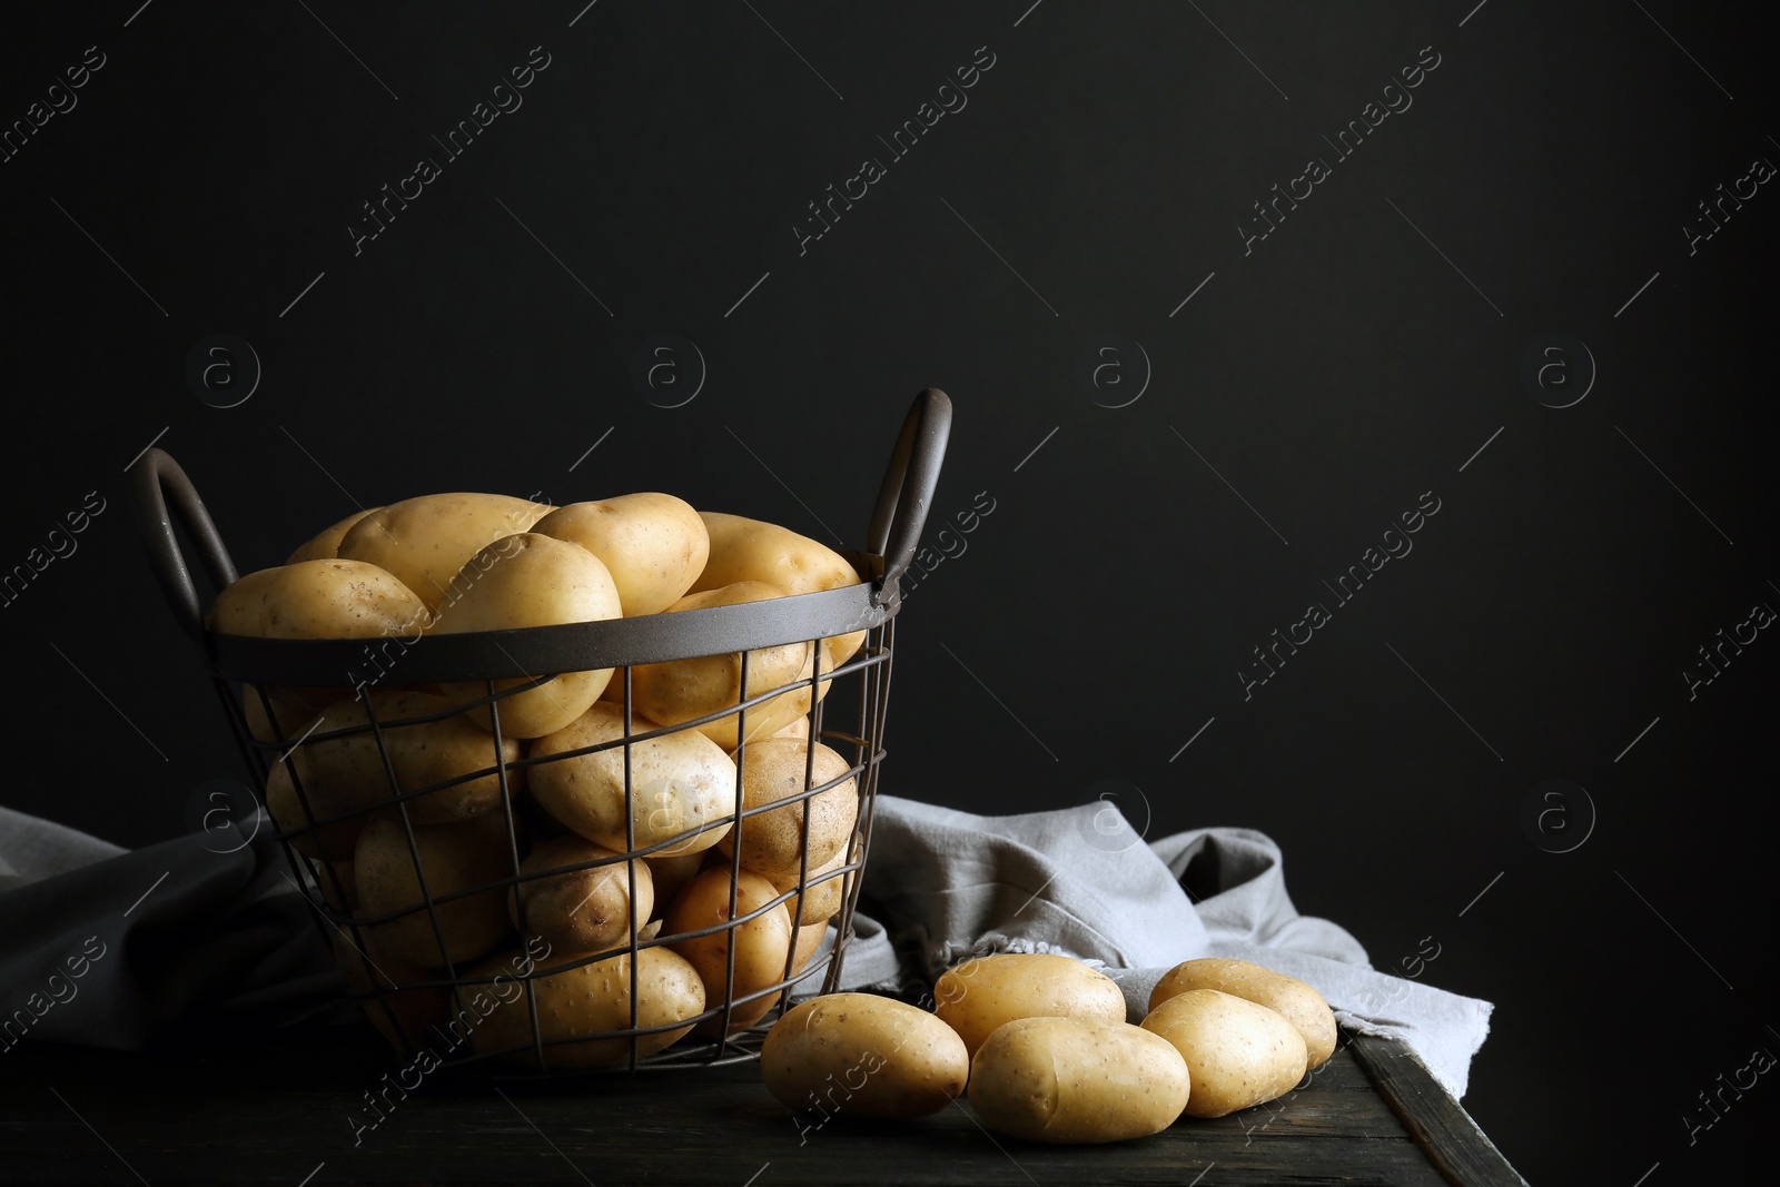
[[[730,1029],[753,1025],[808,966],[862,858],[858,767],[810,721],[819,676],[863,634],[749,651],[748,698],[785,692],[746,710],[746,739],[733,712],[673,728],[740,703],[742,655],[635,666],[630,737],[668,731],[628,746],[621,669],[497,682],[497,746],[486,683],[402,683],[408,642],[858,580],[813,539],[671,495],[449,493],[349,516],[222,589],[217,634],[367,641],[356,683],[249,685],[244,714],[278,755],[274,822],[342,922],[367,920],[363,947],[336,947],[354,989],[384,993],[390,1009],[367,1002],[384,1036],[417,1048],[436,1029],[536,1062],[534,998],[557,1070],[628,1062],[632,1038],[611,1032],[632,1009],[650,1030],[639,1055],[717,1034],[724,1002]],[[735,828],[737,804],[780,801]],[[657,938],[632,972],[634,943]],[[413,988],[449,979],[486,981]]]

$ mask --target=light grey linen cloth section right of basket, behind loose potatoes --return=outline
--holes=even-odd
[[[967,956],[1104,963],[1130,1021],[1180,961],[1228,956],[1305,981],[1362,1034],[1403,1039],[1463,1096],[1493,1005],[1374,970],[1347,931],[1299,915],[1278,845],[1242,828],[1145,844],[1107,801],[979,817],[879,795],[846,988],[910,991]],[[881,925],[879,925],[881,924]]]

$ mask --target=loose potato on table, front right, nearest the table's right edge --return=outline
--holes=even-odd
[[[1221,1118],[1292,1091],[1305,1078],[1305,1036],[1266,1005],[1221,989],[1187,989],[1150,1011],[1193,1073],[1187,1116]]]

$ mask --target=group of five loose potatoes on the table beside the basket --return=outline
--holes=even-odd
[[[1335,1052],[1312,986],[1246,961],[1177,965],[1141,1025],[1105,973],[1056,954],[965,961],[934,1011],[835,993],[789,1011],[760,1073],[799,1112],[917,1118],[970,1091],[988,1128],[1038,1143],[1159,1134],[1276,1100]]]

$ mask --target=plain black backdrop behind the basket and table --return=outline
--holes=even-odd
[[[7,126],[105,64],[0,164],[0,566],[89,491],[105,511],[0,614],[0,801],[141,845],[239,772],[135,541],[150,441],[244,571],[445,489],[666,489],[858,546],[933,384],[927,541],[963,552],[908,598],[886,790],[1118,787],[1150,836],[1264,829],[1374,965],[1438,950],[1422,981],[1497,1004],[1465,1105],[1529,1180],[1716,1182],[1780,1103],[1764,1077],[1689,1144],[1696,1094],[1780,1052],[1780,642],[1693,698],[1680,673],[1780,605],[1780,198],[1691,253],[1682,228],[1780,160],[1769,28],[1671,0],[1029,4],[9,7]],[[433,137],[532,46],[523,107],[447,160]],[[892,158],[979,46],[968,105]],[[1413,105],[1337,158],[1424,46]],[[441,176],[354,253],[420,157]],[[799,253],[865,157],[886,176]],[[1331,176],[1244,254],[1308,157]],[[217,333],[263,368],[235,408],[185,379]],[[657,333],[708,370],[678,408],[632,384]],[[1079,383],[1102,335],[1146,384],[1130,349]],[[1598,368],[1559,356],[1570,408],[1520,381],[1541,335]],[[1413,552],[1335,607],[1323,582],[1426,491]],[[1246,699],[1251,648],[1319,600]],[[1522,826],[1552,778],[1593,804],[1540,801],[1570,852]]]

